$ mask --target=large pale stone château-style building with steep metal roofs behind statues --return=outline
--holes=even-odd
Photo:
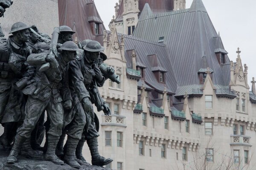
[[[230,61],[202,0],[190,8],[185,0],[161,0],[163,6],[120,0],[110,31],[93,0],[79,7],[85,11],[81,21],[76,13],[63,17],[76,0],[61,2],[47,2],[58,8],[59,24],[75,30],[78,40],[101,42],[108,56],[104,64],[121,79],[119,85],[106,81],[99,90],[112,110],[111,116],[97,113],[99,152],[113,159],[107,167],[253,170],[256,81],[250,89],[239,49],[230,52],[237,55],[236,62]],[[87,146],[83,154],[90,162]]]

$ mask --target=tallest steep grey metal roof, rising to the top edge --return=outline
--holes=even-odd
[[[218,63],[213,38],[218,34],[201,0],[194,0],[190,9],[156,14],[139,21],[133,36],[155,42],[164,37],[178,86],[199,84],[203,56],[206,56],[203,62],[214,71],[213,83],[229,85],[230,60],[227,57],[226,64]]]

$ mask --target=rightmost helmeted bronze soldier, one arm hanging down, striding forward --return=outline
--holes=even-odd
[[[102,47],[99,42],[90,41],[84,47],[83,55],[79,59],[70,62],[70,91],[73,95],[73,103],[79,103],[79,111],[83,110],[86,116],[86,128],[82,133],[82,139],[79,141],[77,156],[82,157],[81,149],[86,140],[92,156],[92,164],[99,166],[109,164],[113,161],[110,158],[105,159],[103,156],[99,155],[97,139],[99,134],[96,130],[94,122],[95,113],[93,112],[92,106],[92,103],[101,105],[98,111],[103,110],[105,115],[111,113],[105,101],[99,96],[97,89],[97,86],[102,86],[105,82],[105,78],[102,76],[97,65],[100,51],[103,50],[104,47]],[[68,130],[67,134],[69,135],[69,133]],[[82,158],[79,157],[79,159]]]

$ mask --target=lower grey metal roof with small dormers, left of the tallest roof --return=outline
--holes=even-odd
[[[119,39],[122,34],[118,34]],[[136,49],[137,59],[140,60],[145,68],[145,78],[144,82],[154,90],[162,93],[164,88],[167,88],[167,92],[172,94],[175,92],[177,88],[177,83],[175,81],[175,76],[172,70],[172,64],[168,59],[168,53],[166,50],[166,46],[163,43],[152,42],[148,40],[143,40],[137,37],[125,35],[125,58],[127,60],[127,67],[131,67],[131,57],[129,50]],[[128,50],[128,51],[126,51]],[[160,83],[154,76],[154,73],[151,71],[151,68],[154,65],[151,65],[151,61],[148,59],[148,55],[157,54],[157,56],[161,56],[158,58],[159,66],[166,69],[166,83]],[[140,80],[142,81],[142,80]]]

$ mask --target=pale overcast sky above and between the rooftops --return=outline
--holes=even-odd
[[[190,8],[193,0],[186,0]],[[248,66],[248,84],[256,77],[256,0],[202,0],[230,60],[240,48],[242,63]],[[94,0],[106,29],[118,0]]]

